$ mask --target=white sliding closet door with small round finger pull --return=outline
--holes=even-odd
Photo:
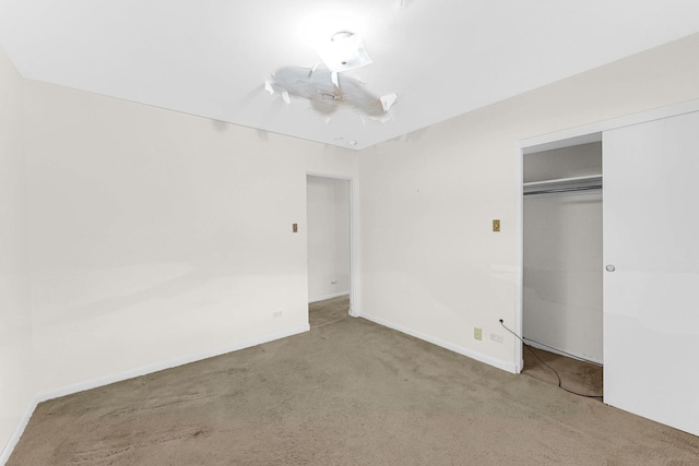
[[[699,112],[603,144],[604,401],[699,435]]]

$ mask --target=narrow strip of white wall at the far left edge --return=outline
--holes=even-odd
[[[24,82],[0,47],[0,452],[34,395],[23,101]]]

